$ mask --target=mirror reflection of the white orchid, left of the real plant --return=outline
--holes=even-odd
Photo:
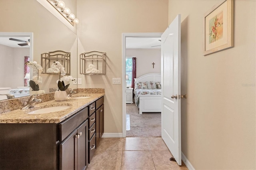
[[[33,73],[35,72],[37,75],[34,75],[32,77],[32,80],[29,81],[29,86],[32,88],[32,91],[38,91],[39,90],[39,77],[41,78],[40,74],[43,71],[43,67],[38,64],[36,61],[27,61],[25,63],[33,70]],[[34,69],[36,68],[36,69]]]

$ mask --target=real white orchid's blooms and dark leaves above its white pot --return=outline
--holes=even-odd
[[[59,77],[59,79],[56,81],[56,83],[58,84],[58,88],[60,91],[65,91],[66,89],[68,89],[68,86],[70,85],[70,81],[74,81],[74,78],[69,75],[69,76],[65,76],[66,75],[66,71],[65,71],[65,67],[63,67],[62,64],[60,64],[59,61],[54,61],[53,62],[53,67],[56,67],[58,69],[60,69],[60,76],[62,75],[63,77]],[[67,84],[65,86],[65,83]]]

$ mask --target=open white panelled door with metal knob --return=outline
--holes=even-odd
[[[162,138],[181,165],[180,14],[162,34],[161,40]]]

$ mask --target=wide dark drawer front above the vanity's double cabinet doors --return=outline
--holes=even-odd
[[[64,140],[74,129],[88,118],[88,108],[84,108],[75,115],[59,124],[60,141]]]

